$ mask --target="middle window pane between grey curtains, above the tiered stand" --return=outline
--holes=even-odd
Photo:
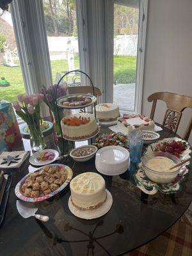
[[[44,0],[44,15],[52,80],[56,83],[65,72],[79,68],[76,1]],[[72,74],[67,80],[77,83],[79,75]]]

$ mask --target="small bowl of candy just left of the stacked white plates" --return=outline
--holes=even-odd
[[[70,157],[77,162],[86,162],[92,159],[97,152],[97,147],[93,145],[86,145],[74,148],[70,151]]]

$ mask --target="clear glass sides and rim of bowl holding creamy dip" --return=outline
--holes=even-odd
[[[155,170],[152,170],[146,166],[148,160],[154,157],[168,157],[169,159],[172,159],[175,165],[180,163],[180,159],[168,152],[155,152],[154,154],[147,154],[141,157],[143,170],[145,171],[145,174],[147,175],[148,179],[160,184],[172,182],[172,180],[174,180],[177,177],[180,170],[180,166],[177,167],[176,170],[162,170],[163,172],[156,172]]]

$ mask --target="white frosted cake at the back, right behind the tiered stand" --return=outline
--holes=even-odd
[[[100,121],[113,121],[120,116],[119,108],[113,103],[102,103],[98,104],[96,107],[96,115]]]

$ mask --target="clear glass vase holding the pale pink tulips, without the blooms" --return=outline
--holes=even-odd
[[[46,147],[40,124],[28,124],[30,131],[30,145],[33,151],[39,151]]]

